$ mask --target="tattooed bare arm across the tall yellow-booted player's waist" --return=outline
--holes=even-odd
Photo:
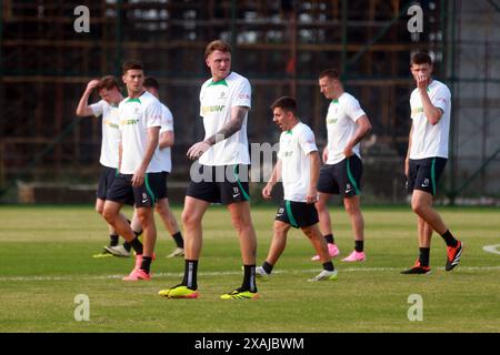
[[[248,108],[246,106],[234,106],[231,109],[231,119],[229,122],[220,129],[216,134],[208,138],[207,140],[202,142],[198,142],[193,144],[188,150],[188,158],[196,160],[200,158],[206,151],[209,150],[210,146],[213,144],[223,141],[231,135],[233,135],[236,132],[241,130],[241,126],[243,125],[244,116],[248,112]]]

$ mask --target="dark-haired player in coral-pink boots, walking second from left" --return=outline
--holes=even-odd
[[[123,236],[136,252],[136,265],[124,281],[150,280],[157,229],[152,207],[156,196],[166,189],[161,160],[156,154],[161,126],[161,104],[144,90],[143,64],[137,60],[123,63],[123,82],[128,98],[118,106],[119,174],[104,203],[104,219]],[[120,214],[124,203],[134,203],[141,223],[143,242],[138,240],[127,220]]]

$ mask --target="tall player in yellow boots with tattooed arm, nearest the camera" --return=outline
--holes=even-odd
[[[159,294],[169,298],[196,298],[199,295],[197,272],[201,253],[201,221],[210,203],[228,207],[238,233],[243,261],[241,287],[221,295],[222,300],[257,298],[256,250],[248,189],[250,154],[247,139],[248,111],[251,108],[249,81],[231,71],[231,48],[221,40],[210,42],[204,52],[212,78],[200,91],[200,115],[204,140],[188,150],[188,158],[199,159],[201,176],[191,173],[182,212],[184,225],[184,277],[182,283]],[[240,181],[240,174],[243,180]]]

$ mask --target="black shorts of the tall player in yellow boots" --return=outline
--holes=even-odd
[[[248,165],[198,165],[186,195],[229,205],[249,201]],[[191,172],[193,174],[193,172]]]

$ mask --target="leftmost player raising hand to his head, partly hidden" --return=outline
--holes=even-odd
[[[89,105],[89,98],[93,90],[97,90],[101,100]],[[108,196],[108,190],[118,169],[118,145],[120,143],[120,131],[118,129],[118,104],[123,100],[120,92],[117,78],[112,75],[103,77],[100,80],[91,80],[86,88],[80,101],[78,102],[78,116],[100,116],[102,115],[102,141],[101,141],[101,156],[99,163],[102,165],[101,175],[96,199],[96,211],[102,215],[104,202]],[[110,247],[118,247],[119,236],[113,226],[108,224],[109,230],[109,245],[104,246],[104,252],[101,255],[111,255]],[[130,245],[126,242],[123,250],[130,251]],[[97,256],[98,256],[97,255]],[[127,256],[127,255],[123,255]]]

